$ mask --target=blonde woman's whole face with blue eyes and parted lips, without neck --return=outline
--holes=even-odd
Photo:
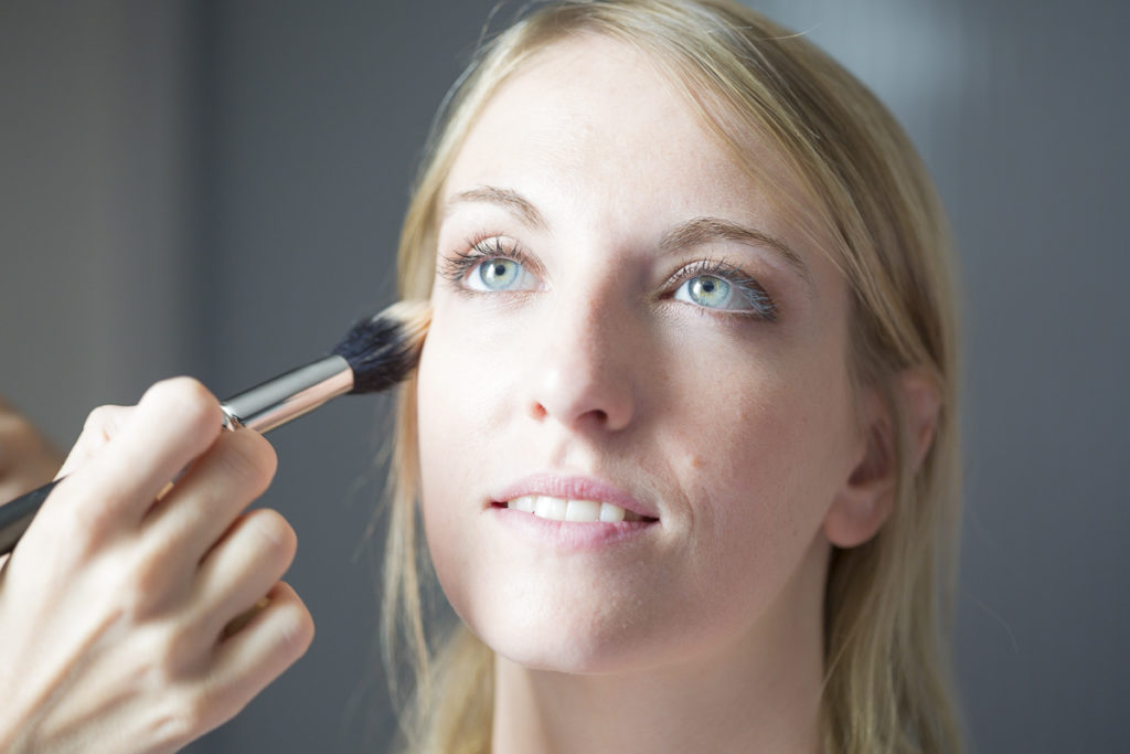
[[[863,448],[831,261],[601,38],[496,93],[444,201],[419,450],[463,621],[567,671],[818,635],[822,522]]]

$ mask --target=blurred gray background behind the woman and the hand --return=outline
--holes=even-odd
[[[0,0],[0,392],[66,447],[97,404],[176,373],[233,392],[391,301],[412,168],[493,5]],[[1125,751],[1130,7],[758,7],[877,90],[953,217],[974,746]],[[365,536],[384,408],[341,400],[272,435],[264,502],[298,531],[288,579],[318,636],[191,751],[388,738]]]

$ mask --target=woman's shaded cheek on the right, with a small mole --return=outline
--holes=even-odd
[[[818,535],[841,475],[845,395],[836,372],[817,373],[828,376],[742,362],[712,374],[711,389],[679,379],[683,409],[663,428],[661,456],[688,501],[696,551],[733,561],[709,567],[738,579],[788,571]]]

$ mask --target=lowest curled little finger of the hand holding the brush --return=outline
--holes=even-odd
[[[209,695],[219,707],[241,709],[314,639],[314,619],[289,584],[280,581],[267,597],[267,607],[217,647]]]

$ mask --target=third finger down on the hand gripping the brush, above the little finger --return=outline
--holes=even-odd
[[[297,545],[294,529],[277,511],[240,517],[197,574],[193,604],[203,618],[201,634],[218,636],[266,595],[290,567]]]

